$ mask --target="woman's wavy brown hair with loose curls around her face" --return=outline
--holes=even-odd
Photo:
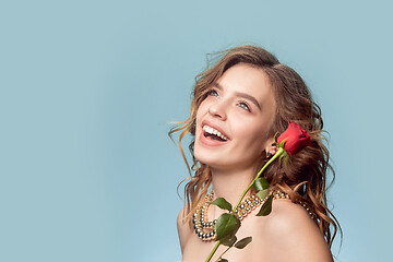
[[[194,139],[189,145],[192,155],[190,167],[184,155],[181,141],[190,133],[195,135],[196,111],[205,99],[207,92],[226,70],[238,63],[246,63],[262,69],[269,76],[276,100],[276,116],[270,131],[270,135],[283,133],[289,121],[295,121],[305,129],[312,140],[312,145],[288,157],[287,165],[284,162],[272,163],[263,172],[263,177],[270,182],[272,189],[281,189],[289,194],[294,203],[306,203],[317,215],[315,223],[323,234],[329,246],[337,234],[342,233],[340,224],[327,207],[326,203],[326,172],[334,170],[329,164],[329,151],[323,145],[323,121],[320,107],[312,100],[310,92],[301,76],[289,67],[279,61],[263,48],[257,46],[240,46],[222,53],[219,60],[206,71],[195,78],[193,99],[190,117],[179,122],[169,132],[181,131],[179,135],[179,148],[186,165],[192,174],[184,186],[186,221],[190,222],[198,203],[207,193],[212,182],[212,174],[207,165],[200,163],[193,155]],[[260,167],[269,160],[266,152],[260,157]],[[257,175],[257,172],[255,172]],[[184,179],[184,180],[188,180]],[[331,226],[333,230],[331,229]]]

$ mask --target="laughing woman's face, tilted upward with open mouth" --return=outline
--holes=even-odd
[[[276,105],[262,69],[239,63],[211,86],[196,111],[194,156],[216,169],[255,167],[273,138]]]

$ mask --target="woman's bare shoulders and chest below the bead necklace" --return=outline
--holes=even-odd
[[[215,210],[214,206],[211,210]],[[237,233],[238,239],[252,236],[252,242],[241,250],[231,248],[223,258],[230,262],[333,261],[322,234],[300,205],[277,199],[273,201],[273,210],[269,216],[258,217],[254,216],[255,213],[257,210],[242,221]],[[199,239],[189,224],[182,224],[181,218],[182,212],[178,216],[182,261],[205,261],[215,242]],[[212,261],[216,261],[225,249],[226,247],[221,246]]]

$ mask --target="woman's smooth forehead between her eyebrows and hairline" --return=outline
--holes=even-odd
[[[224,72],[217,84],[226,93],[245,93],[255,97],[260,104],[274,104],[269,76],[260,68],[246,63],[236,64]]]

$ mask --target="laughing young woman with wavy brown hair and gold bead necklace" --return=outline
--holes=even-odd
[[[286,164],[273,162],[263,172],[275,195],[272,212],[255,216],[262,200],[250,191],[236,236],[251,236],[252,241],[223,258],[230,262],[333,261],[330,247],[340,225],[326,205],[330,165],[320,108],[293,69],[260,47],[240,46],[223,52],[216,64],[196,76],[191,116],[170,131],[181,131],[182,154],[181,139],[188,133],[194,136],[189,146],[194,175],[186,184],[187,204],[178,216],[184,262],[205,261],[215,246],[213,228],[224,211],[209,203],[225,198],[234,206],[275,154],[275,138],[290,121],[310,134],[312,144],[289,156]],[[221,246],[212,261],[225,250]]]

